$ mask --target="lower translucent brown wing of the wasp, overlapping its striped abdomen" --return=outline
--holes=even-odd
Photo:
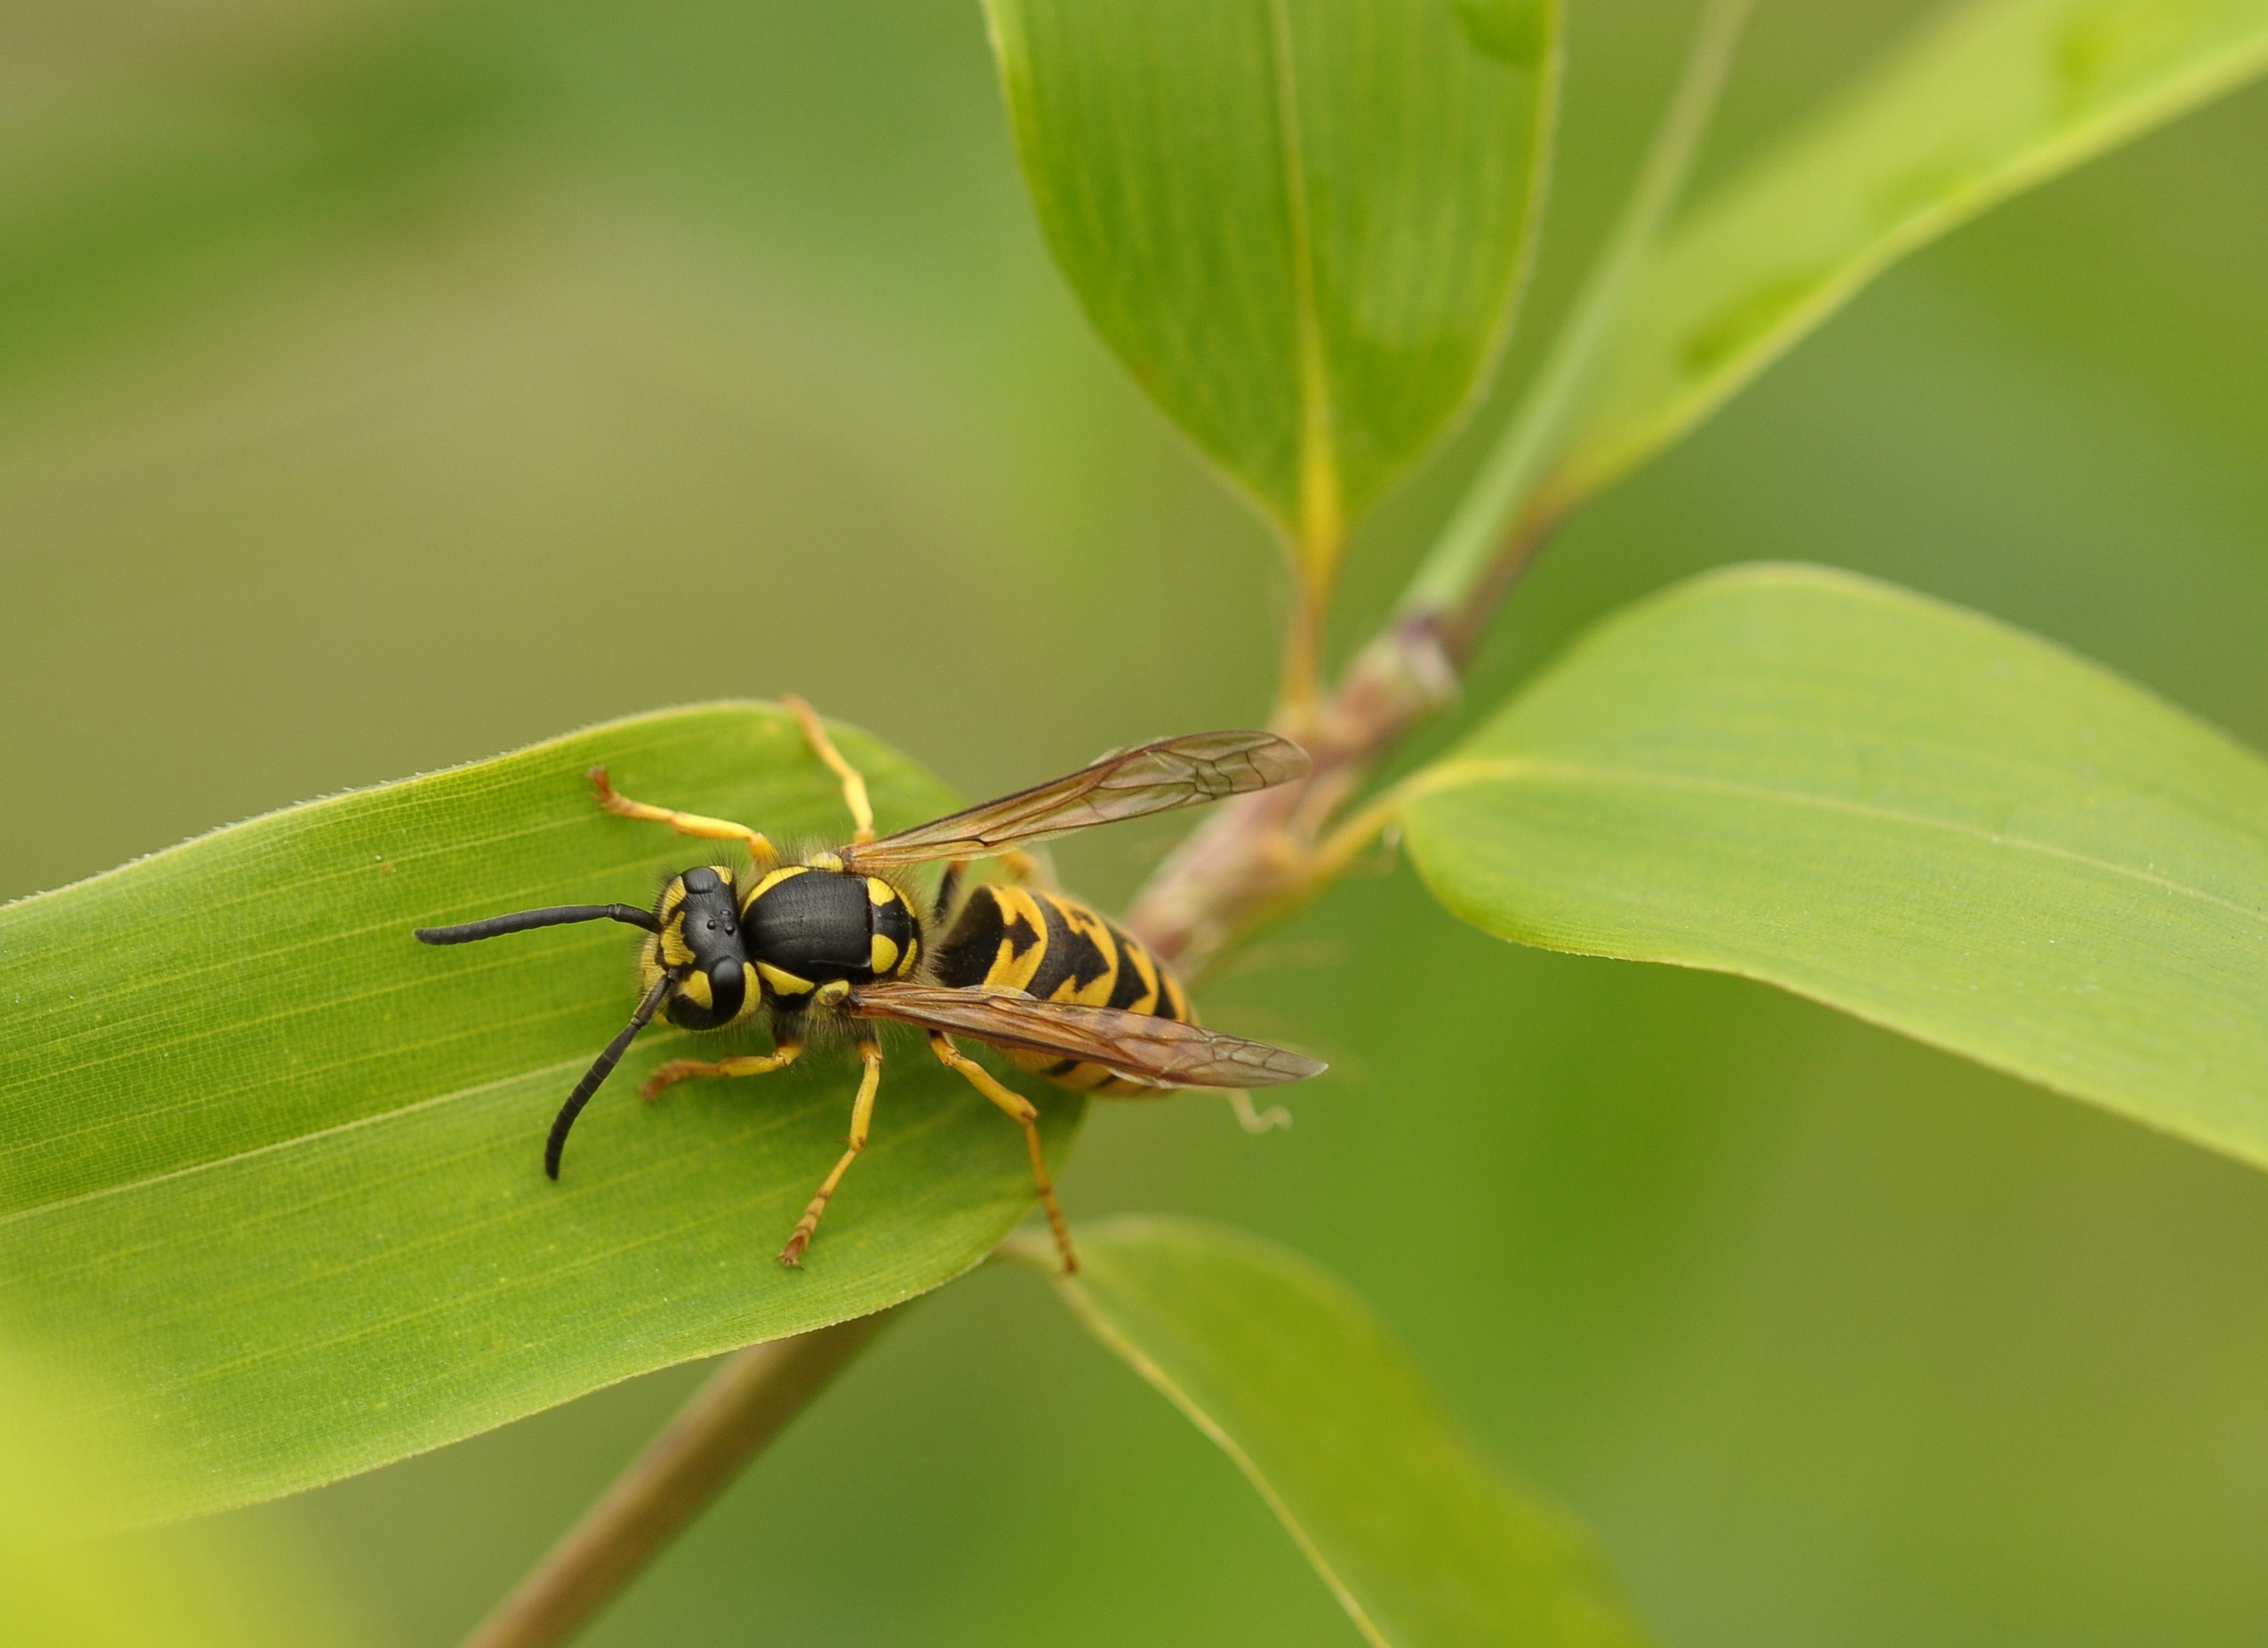
[[[1163,1088],[1275,1088],[1325,1070],[1315,1059],[1263,1040],[1222,1036],[1218,1029],[1150,1013],[1120,1013],[1116,1006],[1041,1002],[1023,991],[869,984],[850,993],[850,1011],[857,1018],[896,1018],[923,1029],[959,1031],[996,1047],[1109,1065],[1123,1077]]]

